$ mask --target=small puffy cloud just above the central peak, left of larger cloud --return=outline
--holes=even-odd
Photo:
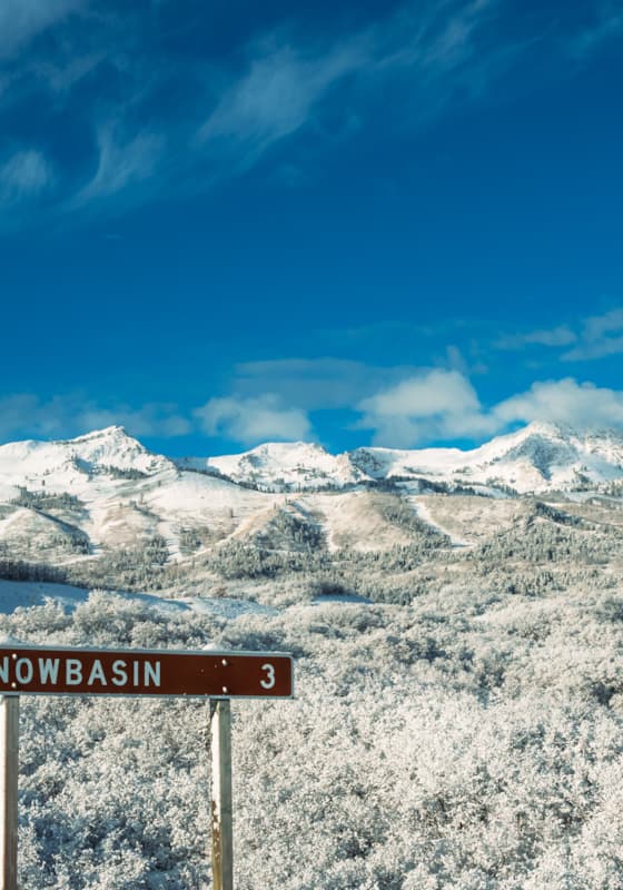
[[[222,436],[244,445],[271,439],[305,439],[312,425],[300,408],[287,407],[278,396],[210,398],[195,417],[209,436]]]

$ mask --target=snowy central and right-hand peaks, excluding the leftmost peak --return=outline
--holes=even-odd
[[[267,444],[238,455],[187,458],[184,468],[270,490],[312,491],[390,478],[517,493],[576,490],[623,478],[623,436],[533,423],[478,448],[363,447],[333,456],[318,445]]]

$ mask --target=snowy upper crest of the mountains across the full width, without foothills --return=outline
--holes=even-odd
[[[115,425],[72,439],[0,445],[0,494],[2,485],[37,483],[48,476],[70,483],[76,473],[138,477],[166,472],[198,472],[277,493],[422,479],[484,494],[508,490],[538,494],[623,479],[623,434],[540,421],[471,449],[360,446],[334,455],[317,443],[269,442],[238,454],[170,458]]]

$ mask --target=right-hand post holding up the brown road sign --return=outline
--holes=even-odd
[[[231,706],[210,702],[212,752],[211,829],[214,890],[234,890],[234,830],[231,817]]]

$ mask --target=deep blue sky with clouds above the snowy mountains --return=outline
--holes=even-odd
[[[623,426],[616,2],[2,0],[0,441]]]

